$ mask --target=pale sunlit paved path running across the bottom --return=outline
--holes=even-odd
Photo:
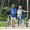
[[[24,23],[22,23],[22,26],[19,26],[18,27],[18,25],[16,24],[16,26],[15,27],[11,27],[11,26],[9,26],[9,27],[0,27],[0,30],[19,30],[19,29],[21,29],[21,30],[30,30],[30,22],[28,22],[29,24],[28,24],[28,27],[26,27],[26,25],[24,24]]]

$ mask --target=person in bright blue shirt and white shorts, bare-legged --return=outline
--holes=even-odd
[[[12,7],[8,9],[10,11],[10,17],[12,20],[12,27],[15,27],[15,20],[16,20],[16,8],[14,4],[12,4]]]

